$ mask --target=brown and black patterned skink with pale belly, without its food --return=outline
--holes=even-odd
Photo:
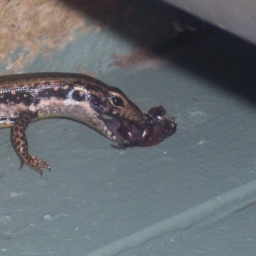
[[[20,167],[25,163],[40,175],[41,168],[51,170],[44,159],[29,154],[25,130],[30,122],[54,117],[76,120],[122,144],[116,118],[140,121],[143,113],[121,90],[90,76],[47,72],[0,77],[0,128],[12,127]]]

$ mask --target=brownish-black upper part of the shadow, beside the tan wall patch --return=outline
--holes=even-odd
[[[163,52],[170,45],[175,45],[176,38],[185,42],[187,37],[198,35],[182,26],[185,22],[190,24],[185,13],[159,0],[63,0],[63,2],[70,8],[76,8],[79,12],[89,15],[102,26],[108,26],[127,39],[134,40],[137,45],[154,52]],[[173,22],[179,22],[179,29],[184,31],[175,31]],[[199,24],[202,22],[196,25],[200,26]],[[180,40],[180,36],[184,39]]]

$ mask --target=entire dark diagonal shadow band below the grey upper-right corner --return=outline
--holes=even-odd
[[[159,0],[63,1],[137,45],[256,102],[255,45]],[[173,21],[180,24],[182,32],[175,29]]]

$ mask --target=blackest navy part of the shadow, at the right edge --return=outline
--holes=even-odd
[[[256,47],[234,35],[215,29],[168,55],[174,63],[204,76],[223,90],[256,103]]]

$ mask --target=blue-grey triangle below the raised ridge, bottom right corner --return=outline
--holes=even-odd
[[[161,236],[120,255],[255,255],[255,205],[176,239]]]

